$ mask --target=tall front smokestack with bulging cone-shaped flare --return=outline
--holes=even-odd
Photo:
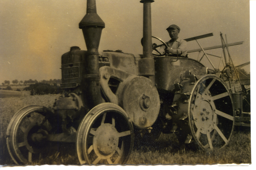
[[[90,102],[90,107],[103,102],[100,92],[100,76],[99,76],[99,41],[102,29],[105,28],[105,23],[99,17],[96,10],[96,0],[87,0],[87,11],[84,18],[79,23],[79,28],[82,29],[84,40],[87,47],[86,63],[87,75],[84,79],[87,82],[87,99]]]

